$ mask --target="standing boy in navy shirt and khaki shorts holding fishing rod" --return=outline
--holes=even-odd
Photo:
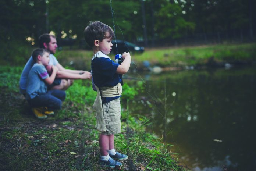
[[[121,167],[122,163],[115,161],[127,160],[128,156],[115,151],[114,134],[121,132],[121,79],[118,74],[128,72],[131,64],[129,53],[123,53],[121,64],[112,61],[107,54],[112,48],[111,40],[114,32],[110,26],[100,21],[90,22],[84,31],[85,40],[93,49],[92,78],[97,89],[97,97],[93,104],[96,110],[96,129],[100,138],[100,165]]]

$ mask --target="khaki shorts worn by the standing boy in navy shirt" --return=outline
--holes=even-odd
[[[102,104],[107,131],[104,135],[113,135],[121,132],[121,100],[120,98]]]

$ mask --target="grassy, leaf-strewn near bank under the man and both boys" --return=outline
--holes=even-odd
[[[0,67],[0,168],[20,170],[113,170],[99,167],[99,133],[90,81],[75,81],[67,92],[62,110],[46,120],[36,119],[24,96],[18,93],[22,67]],[[132,97],[129,88],[125,96]],[[125,103],[125,98],[123,99]],[[115,138],[116,150],[127,153],[122,170],[184,171],[168,151],[171,145],[146,132],[146,117],[135,119],[122,111],[122,133]]]

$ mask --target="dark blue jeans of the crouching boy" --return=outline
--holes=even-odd
[[[28,100],[31,107],[47,107],[48,110],[61,109],[61,103],[65,100],[66,93],[62,90],[49,90],[46,94],[37,95]]]

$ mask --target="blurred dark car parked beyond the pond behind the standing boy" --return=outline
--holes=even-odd
[[[115,45],[115,40],[112,40],[111,42],[113,44],[111,52],[114,54],[117,54],[117,50],[119,54],[122,54],[124,52],[138,52],[138,53],[143,53],[144,47],[141,46],[136,46],[133,43],[123,41],[123,40],[117,40],[117,49]]]

